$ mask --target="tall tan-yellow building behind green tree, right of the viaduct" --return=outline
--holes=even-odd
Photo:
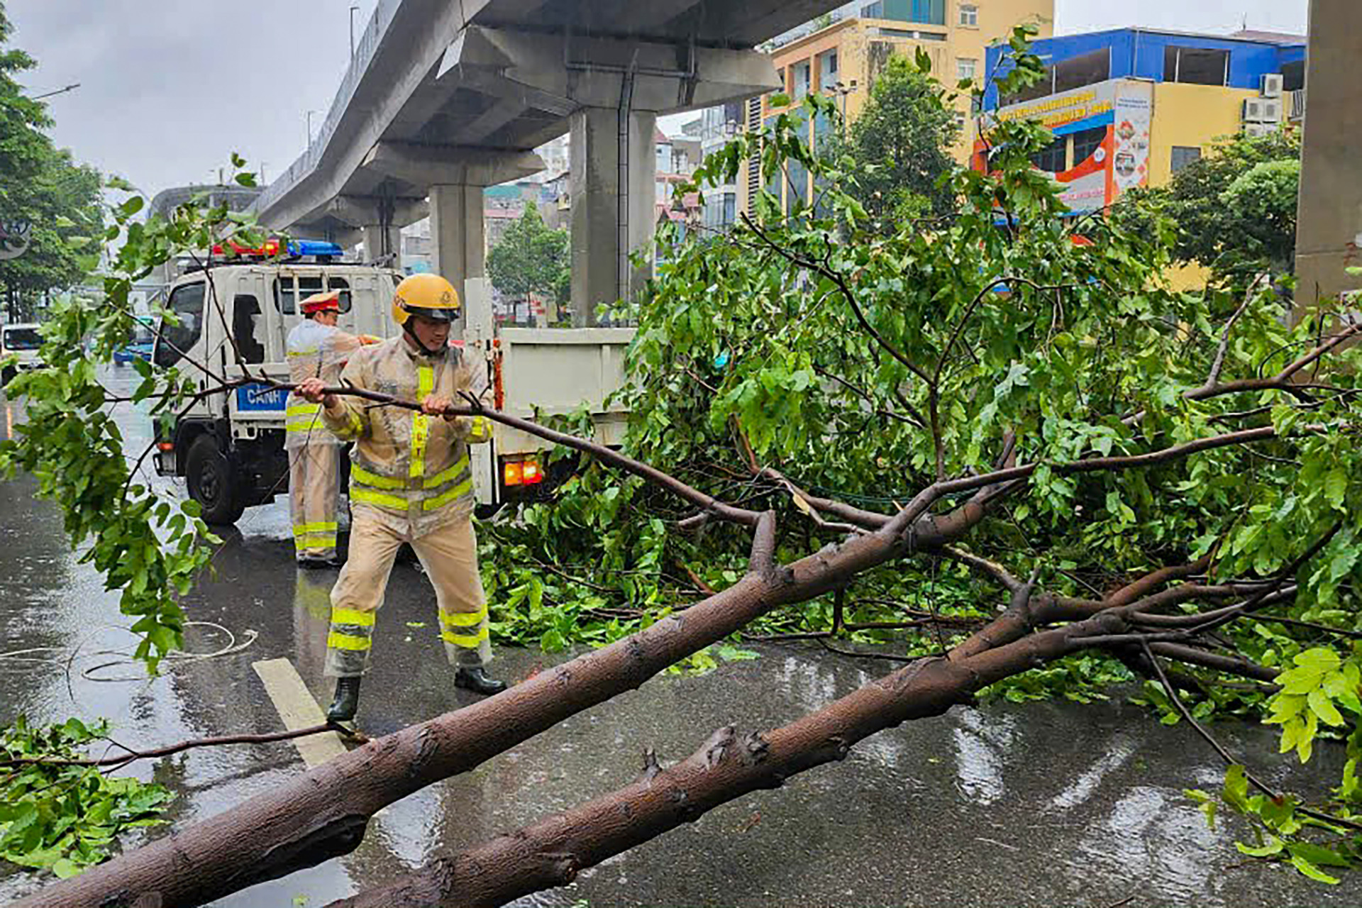
[[[821,93],[838,98],[846,118],[854,120],[891,56],[914,59],[921,48],[932,60],[933,75],[944,84],[953,86],[959,79],[982,83],[987,46],[1026,22],[1049,35],[1054,0],[861,0],[829,18],[831,22],[776,38],[771,53],[793,103]],[[748,128],[780,113],[782,108],[771,105],[771,97],[749,102]],[[953,151],[966,163],[974,146],[967,95],[960,99],[959,121],[960,140]],[[810,139],[816,140],[827,125],[810,124]],[[760,174],[749,167],[741,193],[744,208],[759,187]]]

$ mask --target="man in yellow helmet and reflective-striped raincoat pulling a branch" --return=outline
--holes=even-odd
[[[434,585],[445,656],[458,668],[454,683],[482,694],[505,689],[485,670],[492,647],[467,449],[492,437],[490,423],[482,417],[444,415],[460,392],[473,388],[473,370],[448,344],[459,294],[439,275],[411,275],[398,285],[392,314],[402,336],[351,355],[340,381],[419,402],[422,412],[326,395],[319,378],[298,385],[300,396],[321,404],[327,427],[354,441],[350,553],[331,591],[326,671],[336,678],[327,712],[332,721],[353,719],[358,708],[375,615],[403,542],[411,543]]]

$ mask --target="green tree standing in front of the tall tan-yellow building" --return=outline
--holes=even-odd
[[[829,135],[824,152],[857,162],[851,195],[872,221],[953,211],[955,195],[938,181],[955,163],[947,148],[960,129],[955,110],[938,101],[943,91],[925,54],[917,61],[891,57],[861,116],[844,135]]]

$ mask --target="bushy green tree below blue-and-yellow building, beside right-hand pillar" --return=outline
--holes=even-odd
[[[1177,259],[1245,286],[1269,271],[1295,268],[1295,208],[1301,136],[1294,129],[1234,136],[1173,176],[1167,187],[1128,193],[1117,216],[1139,229],[1150,211],[1177,226]]]

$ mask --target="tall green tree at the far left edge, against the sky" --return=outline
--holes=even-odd
[[[35,61],[7,46],[11,31],[0,3],[0,221],[31,225],[27,252],[0,261],[0,299],[10,320],[26,320],[42,294],[84,278],[79,237],[99,229],[102,211],[99,174],[53,146],[46,105],[23,97],[16,76]]]

